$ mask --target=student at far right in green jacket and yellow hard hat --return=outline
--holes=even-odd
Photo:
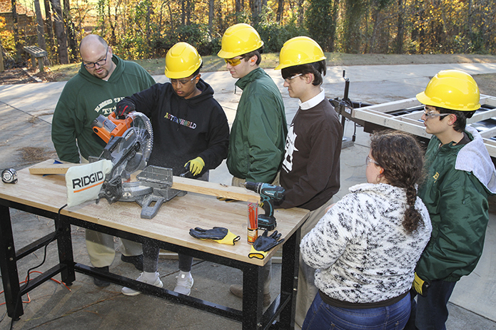
[[[425,105],[425,132],[433,135],[418,194],[429,211],[432,235],[417,262],[417,303],[405,329],[446,329],[455,284],[475,269],[482,254],[496,171],[480,134],[466,125],[480,108],[479,97],[472,76],[458,70],[440,71],[417,94]]]

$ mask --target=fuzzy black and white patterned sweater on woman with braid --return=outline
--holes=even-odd
[[[315,286],[333,299],[352,303],[384,301],[407,292],[432,225],[417,197],[424,225],[403,229],[408,207],[403,188],[383,183],[350,187],[300,243],[306,264],[317,269]]]

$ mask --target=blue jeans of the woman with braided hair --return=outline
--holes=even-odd
[[[408,316],[410,294],[390,306],[371,309],[330,306],[317,294],[301,330],[400,330],[407,323]]]

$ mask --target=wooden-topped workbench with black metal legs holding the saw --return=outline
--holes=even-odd
[[[242,321],[243,329],[268,329],[268,326],[278,315],[280,315],[280,324],[283,329],[293,326],[295,306],[295,299],[293,299],[295,291],[293,289],[297,282],[295,277],[298,274],[299,229],[308,215],[307,210],[290,209],[276,210],[275,212],[278,222],[276,230],[285,238],[281,293],[263,314],[263,272],[261,266],[275,254],[277,249],[273,249],[263,260],[248,258],[251,246],[246,240],[246,202],[226,203],[216,200],[216,197],[188,193],[186,196],[175,197],[166,202],[156,217],[151,220],[141,219],[141,207],[134,202],[116,202],[109,205],[106,200],[101,200],[98,204],[85,202],[70,210],[64,208],[59,216],[59,209],[66,204],[64,175],[32,175],[28,169],[24,169],[18,172],[18,177],[19,182],[14,185],[0,183],[0,237],[2,237],[0,266],[9,316],[18,318],[23,314],[21,304],[17,306],[17,309],[15,308],[17,297],[20,297],[19,293],[25,294],[54,274],[59,273],[66,284],[71,284],[75,280],[75,272],[82,272],[126,287],[139,289],[146,294]],[[42,237],[27,247],[15,249],[9,207],[54,219],[56,232]],[[262,210],[260,209],[260,211]],[[163,249],[236,267],[243,271],[243,286],[248,287],[248,284],[251,284],[250,286],[253,287],[255,285],[258,290],[249,290],[250,292],[244,293],[243,311],[237,311],[226,306],[218,306],[218,304],[208,301],[136,282],[116,274],[101,273],[92,267],[74,263],[70,225],[108,232],[108,234],[132,239],[136,242],[156,244]],[[233,234],[241,236],[241,240],[233,246],[195,239],[189,234],[190,228],[202,227],[207,229],[214,226],[228,228]],[[28,287],[19,288],[17,260],[40,247],[44,247],[44,244],[48,244],[54,239],[56,239],[59,247],[60,264],[52,267],[46,274],[33,279]]]

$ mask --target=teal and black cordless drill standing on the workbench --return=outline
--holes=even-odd
[[[258,215],[258,228],[274,230],[277,225],[274,217],[274,201],[283,199],[284,188],[263,182],[247,181],[244,185],[246,189],[260,194],[260,200],[263,202],[265,215]]]

